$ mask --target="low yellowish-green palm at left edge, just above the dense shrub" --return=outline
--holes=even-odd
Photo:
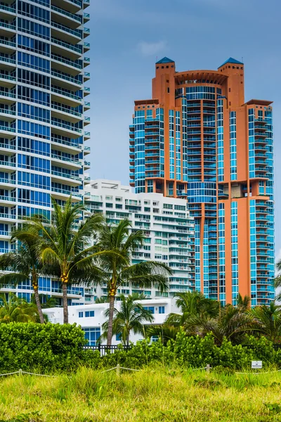
[[[39,313],[36,305],[27,303],[24,299],[18,298],[14,293],[0,295],[0,323],[9,322],[37,322]]]

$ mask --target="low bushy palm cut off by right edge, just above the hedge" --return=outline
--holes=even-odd
[[[269,306],[256,306],[249,309],[249,314],[257,323],[257,330],[269,340],[275,342],[281,336],[281,306],[270,302]]]

